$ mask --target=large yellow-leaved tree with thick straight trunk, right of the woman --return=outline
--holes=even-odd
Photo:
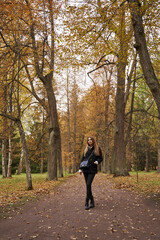
[[[136,3],[138,1],[128,2]],[[139,7],[139,5],[137,6]],[[157,6],[157,3],[152,2],[151,4],[149,4],[149,2],[145,2],[144,6],[142,7],[143,13],[145,14],[146,12],[147,14],[149,14],[149,9],[151,6],[154,9],[154,7]],[[100,68],[113,64],[113,62],[111,61],[111,57],[113,59],[113,56],[115,56],[114,64],[116,64],[117,67],[114,122],[115,135],[113,155],[112,159],[110,159],[112,172],[115,176],[128,174],[125,154],[126,151],[128,151],[128,145],[131,144],[131,139],[133,137],[132,130],[134,118],[134,98],[136,87],[138,84],[136,79],[136,72],[139,69],[139,65],[137,64],[138,67],[135,67],[136,62],[134,59],[136,53],[133,48],[133,28],[130,15],[128,14],[129,7],[132,14],[133,26],[135,26],[133,14],[135,17],[138,7],[136,7],[134,4],[128,5],[126,2],[121,3],[121,1],[115,1],[113,3],[110,3],[109,1],[89,1],[87,2],[87,4],[82,3],[78,6],[69,5],[70,23],[72,22],[70,27],[72,36],[71,41],[72,39],[76,38],[77,46],[75,46],[75,52],[79,52],[79,54],[83,55],[82,63],[95,66],[95,68],[93,67],[94,70],[90,71],[90,73],[99,71]],[[153,15],[158,16],[157,12],[159,8],[156,9],[155,13],[153,12],[153,9]],[[151,24],[150,26],[153,25]],[[156,31],[154,33],[156,34]],[[140,36],[138,36],[138,39],[140,39]],[[83,48],[85,44],[87,44],[88,46],[87,50],[86,48]],[[79,46],[81,46],[81,49]],[[82,53],[84,49],[85,54]],[[152,51],[152,54],[154,54],[154,51]],[[133,61],[133,64],[129,64],[131,61]],[[145,65],[144,61],[143,65]],[[130,71],[130,76],[128,76],[127,78],[126,70],[129,69],[130,66],[132,67],[132,69]],[[115,69],[116,68],[114,68],[114,71]],[[96,78],[96,74],[95,77],[92,77],[92,80],[93,78]],[[126,79],[128,79],[128,83]],[[112,81],[115,81],[115,76]],[[158,95],[159,94],[157,93],[157,98]],[[128,103],[127,101],[130,102]],[[127,113],[127,111],[129,111],[129,113]],[[126,116],[130,117],[126,118]],[[94,125],[94,123],[92,123],[92,125]],[[148,159],[147,152],[146,158]]]

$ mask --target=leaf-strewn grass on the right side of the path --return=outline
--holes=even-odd
[[[130,172],[129,177],[112,178],[115,188],[129,189],[138,193],[160,196],[160,174],[151,172]]]

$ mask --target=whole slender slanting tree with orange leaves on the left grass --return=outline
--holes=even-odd
[[[12,3],[8,3],[9,5]],[[13,3],[13,6],[19,7],[19,5],[15,5],[15,2]],[[4,12],[3,12],[4,13]],[[21,103],[20,103],[20,71],[21,69],[21,62],[20,62],[20,32],[19,32],[19,16],[14,15],[14,13],[10,10],[8,10],[8,15],[7,18],[9,17],[11,21],[9,21],[8,28],[12,29],[14,28],[14,31],[11,31],[11,35],[8,37],[8,32],[6,30],[3,30],[0,32],[1,39],[3,41],[3,47],[6,50],[6,52],[10,54],[10,61],[11,66],[7,66],[6,70],[6,76],[10,76],[10,68],[14,66],[14,71],[11,77],[11,82],[14,82],[15,84],[15,106],[16,106],[16,111],[14,113],[7,113],[5,111],[5,108],[1,108],[1,113],[0,115],[8,118],[12,121],[14,121],[17,124],[17,127],[19,129],[19,134],[21,137],[21,142],[23,145],[23,150],[24,150],[24,158],[25,158],[25,165],[26,165],[26,178],[27,178],[27,187],[28,190],[32,189],[32,177],[31,177],[31,168],[30,168],[30,159],[28,155],[28,146],[26,142],[26,136],[25,136],[25,131],[24,127],[22,124],[22,109],[21,109]],[[6,24],[7,19],[4,20],[4,26]],[[3,25],[2,25],[3,27]],[[7,40],[6,40],[7,39]],[[14,39],[14,41],[13,41]],[[9,55],[8,54],[8,55]],[[14,65],[12,65],[14,64]],[[12,68],[13,69],[13,68]],[[4,81],[4,79],[2,79]],[[12,84],[11,84],[12,85]],[[9,94],[8,94],[9,95]]]

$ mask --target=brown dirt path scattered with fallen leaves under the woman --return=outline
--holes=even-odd
[[[93,182],[95,208],[84,210],[84,178],[77,174],[52,194],[0,220],[0,240],[159,240],[160,203],[112,188],[104,174]]]

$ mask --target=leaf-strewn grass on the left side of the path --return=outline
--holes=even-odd
[[[26,202],[41,195],[49,194],[70,175],[59,178],[58,181],[46,181],[47,174],[32,174],[33,190],[27,190],[26,174],[13,175],[12,178],[0,176],[0,206],[13,205],[17,202]]]

